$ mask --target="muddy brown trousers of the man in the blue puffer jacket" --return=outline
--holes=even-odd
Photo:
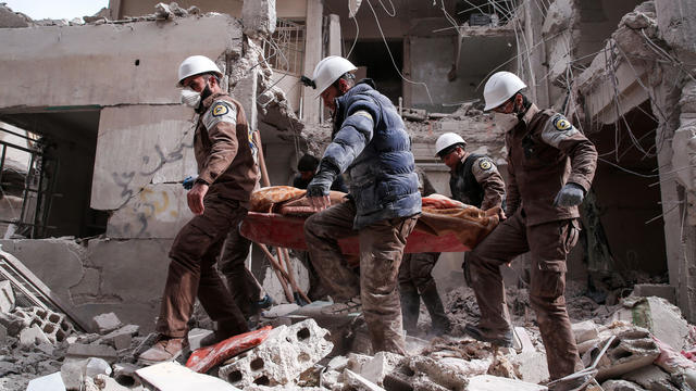
[[[397,275],[418,217],[378,220],[356,230],[355,216],[352,201],[311,215],[304,222],[310,258],[335,301],[360,294],[373,350],[406,354]],[[351,236],[359,238],[360,276],[348,267],[338,247],[339,239]]]

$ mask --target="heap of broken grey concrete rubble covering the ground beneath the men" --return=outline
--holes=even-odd
[[[181,389],[184,382],[187,389],[214,383],[221,390],[502,391],[546,390],[549,382],[545,348],[523,288],[508,288],[517,326],[512,349],[463,335],[461,328],[475,321],[477,307],[471,289],[459,288],[446,300],[452,332],[427,340],[408,336],[407,356],[370,354],[364,343],[356,342],[360,340],[357,335],[366,333],[360,327],[364,326],[361,317],[325,324],[325,319],[306,316],[301,307],[289,313],[271,308],[260,325],[275,327],[265,328],[264,338],[254,348],[234,350],[232,357],[222,356],[224,349],[211,349],[210,354],[221,354],[220,360],[213,357],[220,364],[207,374],[197,374],[183,363],[141,365],[138,355],[154,343],[156,335],[139,336],[138,326],[122,324],[113,313],[94,317],[90,326],[95,332],[78,332],[63,314],[17,307],[12,286],[1,281],[0,286],[5,298],[0,306],[2,390],[166,391]],[[584,316],[573,323],[573,332],[587,373],[602,389],[696,387],[696,328],[684,320],[679,308],[662,298],[634,295],[613,307],[588,306],[579,300],[583,292],[580,286],[568,287],[569,306],[582,308],[572,313]],[[606,317],[601,315],[605,312],[609,313]],[[200,339],[210,332],[192,329],[191,349],[199,348]],[[346,335],[352,335],[352,343],[339,341]],[[428,336],[424,332],[422,337]],[[225,346],[236,349],[229,342]]]

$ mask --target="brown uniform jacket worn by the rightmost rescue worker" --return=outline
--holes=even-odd
[[[506,134],[508,210],[521,205],[526,225],[579,217],[577,206],[554,206],[567,182],[589,190],[597,167],[595,146],[566,117],[532,104],[522,121]]]

